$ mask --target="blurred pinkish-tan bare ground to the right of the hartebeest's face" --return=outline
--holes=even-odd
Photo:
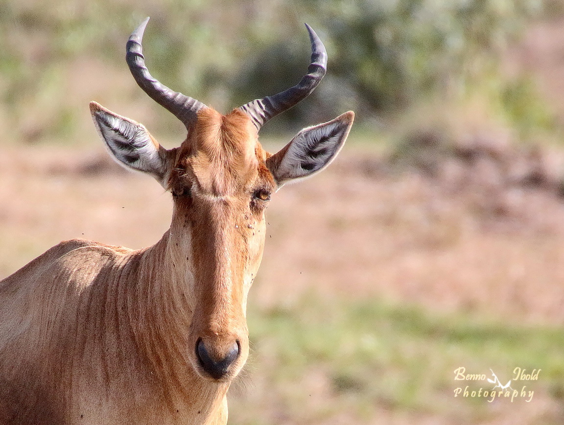
[[[254,296],[279,303],[313,289],[562,323],[558,190],[503,181],[488,171],[491,161],[469,168],[444,160],[440,176],[429,177],[345,154],[324,174],[281,190],[269,211],[265,283]]]

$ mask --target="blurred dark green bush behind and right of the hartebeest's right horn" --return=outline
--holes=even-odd
[[[268,42],[255,37],[255,49],[245,52],[241,72],[228,85],[233,104],[296,84],[309,57],[302,20],[321,34],[329,52],[323,84],[275,121],[278,130],[351,108],[359,121],[370,121],[429,96],[464,95],[481,80],[499,84],[501,52],[543,10],[541,0],[274,3],[266,6],[278,17],[269,21],[268,34],[257,26]],[[272,34],[280,35],[273,40]]]

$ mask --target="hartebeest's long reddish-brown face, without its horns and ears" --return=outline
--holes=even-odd
[[[175,152],[168,180],[171,238],[190,270],[193,308],[188,346],[204,377],[228,380],[243,367],[249,343],[245,309],[265,242],[265,211],[276,183],[245,113],[199,112],[191,137]]]

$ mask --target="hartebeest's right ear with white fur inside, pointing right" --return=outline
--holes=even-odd
[[[337,156],[349,135],[354,112],[299,132],[290,143],[267,159],[266,165],[279,187],[323,170]]]

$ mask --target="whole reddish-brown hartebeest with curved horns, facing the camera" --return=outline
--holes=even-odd
[[[135,80],[188,135],[166,150],[133,120],[90,104],[121,164],[174,201],[170,229],[136,251],[67,240],[0,282],[0,424],[224,424],[249,352],[246,299],[265,210],[284,183],[327,166],[354,119],[305,128],[268,154],[258,130],[319,84],[327,54],[309,31],[306,76],[227,115],[175,93],[145,65],[145,20],[127,42]]]

